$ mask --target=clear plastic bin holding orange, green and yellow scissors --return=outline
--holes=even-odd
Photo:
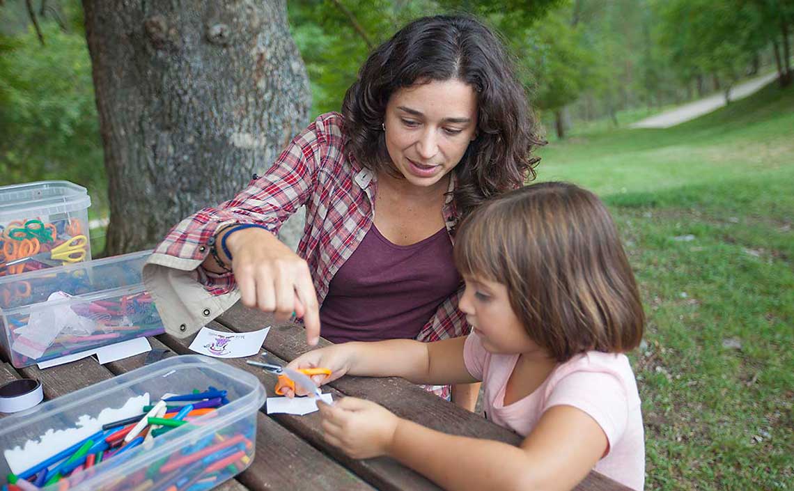
[[[0,276],[90,261],[90,206],[86,188],[67,181],[0,187]]]

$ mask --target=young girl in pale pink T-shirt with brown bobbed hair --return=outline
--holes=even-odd
[[[640,400],[622,354],[642,338],[642,304],[603,203],[565,183],[512,191],[464,220],[454,258],[468,337],[349,342],[291,367],[332,369],[322,383],[483,381],[486,416],[525,436],[521,446],[445,435],[353,397],[321,404],[326,440],[354,458],[388,455],[445,489],[572,489],[592,469],[642,489]]]

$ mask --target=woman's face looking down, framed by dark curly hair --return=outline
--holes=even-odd
[[[461,161],[476,137],[477,98],[457,79],[414,83],[391,95],[386,148],[410,184],[429,188]]]

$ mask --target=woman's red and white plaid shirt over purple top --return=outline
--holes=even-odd
[[[204,208],[175,226],[155,253],[203,260],[207,240],[229,223],[259,223],[278,234],[281,224],[306,205],[306,228],[298,254],[309,265],[318,302],[341,265],[356,250],[374,218],[377,182],[368,169],[345,155],[341,114],[322,114],[281,153],[276,163],[249,187],[216,208]],[[450,191],[455,184],[450,180]],[[447,230],[457,222],[452,195],[442,209]],[[452,239],[452,234],[450,234]],[[216,275],[202,268],[198,279],[214,295],[235,288],[231,273]],[[463,287],[438,307],[417,336],[431,342],[468,334],[464,314],[457,309]],[[433,392],[449,398],[449,387]]]

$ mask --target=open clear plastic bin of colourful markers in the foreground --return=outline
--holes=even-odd
[[[0,451],[5,458],[0,458],[0,484],[10,472],[35,478],[40,474],[37,464],[92,435],[92,442],[100,441],[106,434],[95,435],[102,434],[103,422],[124,419],[119,417],[122,413],[142,414],[147,395],[155,404],[167,393],[190,394],[208,387],[225,390],[228,404],[42,489],[210,489],[219,485],[245,470],[253,459],[256,415],[265,391],[251,373],[198,355],[167,358],[2,419]],[[119,412],[121,408],[125,412]],[[52,462],[49,472],[57,465]]]

